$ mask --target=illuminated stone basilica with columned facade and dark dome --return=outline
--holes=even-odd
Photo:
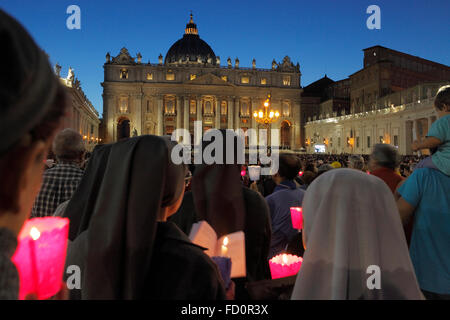
[[[234,64],[233,64],[234,62]],[[300,66],[284,57],[270,68],[241,67],[239,59],[225,63],[198,35],[192,15],[183,37],[160,55],[158,63],[144,63],[142,55],[122,48],[106,55],[103,86],[105,142],[141,134],[170,135],[177,128],[194,133],[194,121],[211,128],[262,128],[253,117],[270,94],[271,108],[280,117],[282,149],[301,147]]]

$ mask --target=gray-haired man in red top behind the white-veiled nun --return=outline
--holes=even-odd
[[[392,193],[403,181],[403,177],[395,170],[400,165],[400,155],[397,149],[390,144],[376,144],[373,146],[369,159],[370,174],[383,180]]]

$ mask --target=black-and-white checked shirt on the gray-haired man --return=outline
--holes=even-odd
[[[61,203],[72,197],[82,177],[83,170],[73,163],[62,162],[45,171],[31,216],[52,216]]]

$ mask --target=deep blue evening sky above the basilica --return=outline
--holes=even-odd
[[[68,30],[66,9],[81,8],[81,30]],[[381,9],[381,29],[369,30],[366,9]],[[102,112],[103,63],[127,47],[143,62],[184,33],[193,11],[200,37],[222,64],[238,57],[241,66],[270,68],[272,59],[289,55],[300,63],[302,86],[325,73],[346,78],[362,67],[362,49],[382,45],[446,65],[450,64],[448,0],[0,0],[0,8],[16,17],[58,62],[62,74],[72,66],[95,108]]]

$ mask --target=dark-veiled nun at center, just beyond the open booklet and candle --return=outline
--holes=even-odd
[[[234,148],[233,164],[197,165],[191,182],[192,191],[185,193],[180,209],[169,221],[186,234],[190,233],[194,223],[201,220],[206,220],[218,237],[244,231],[247,277],[234,281],[236,300],[248,299],[247,282],[271,278],[268,264],[272,234],[270,211],[264,198],[244,187],[240,181],[240,165],[236,156],[240,138],[232,130],[220,132],[224,159],[227,159],[227,144]],[[203,150],[208,144],[204,143]]]

